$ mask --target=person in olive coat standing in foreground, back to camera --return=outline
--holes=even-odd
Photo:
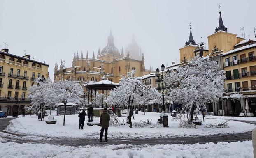
[[[104,108],[103,113],[100,115],[100,142],[102,142],[103,132],[105,130],[105,142],[107,142],[107,130],[109,126],[110,115],[107,112],[107,108]]]

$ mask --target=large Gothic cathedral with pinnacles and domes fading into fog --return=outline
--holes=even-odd
[[[74,54],[71,67],[65,67],[61,60],[58,69],[57,63],[54,67],[54,82],[60,80],[72,80],[79,82],[94,82],[107,79],[118,83],[123,76],[126,76],[132,69],[136,70],[135,76],[144,76],[150,73],[145,69],[144,54],[141,48],[132,38],[127,50],[121,49],[121,53],[114,45],[114,37],[110,31],[107,38],[107,46],[101,51],[98,48],[97,57],[93,52],[92,58],[88,57],[88,51],[84,58],[83,52],[79,57],[78,52]]]

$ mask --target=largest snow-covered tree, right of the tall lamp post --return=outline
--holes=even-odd
[[[223,96],[225,78],[225,72],[216,62],[195,57],[188,65],[179,66],[177,71],[170,70],[166,73],[166,98],[182,103],[181,112],[189,110],[188,122],[191,122],[197,106],[216,101]]]

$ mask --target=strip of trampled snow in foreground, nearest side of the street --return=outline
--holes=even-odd
[[[253,158],[251,141],[102,147],[0,142],[0,149],[2,158]]]

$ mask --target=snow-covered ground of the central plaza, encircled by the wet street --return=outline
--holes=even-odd
[[[44,137],[67,137],[67,138],[98,138],[100,135],[100,127],[84,125],[84,130],[78,129],[79,117],[78,115],[67,115],[65,126],[63,126],[63,116],[54,116],[57,120],[56,124],[46,124],[45,121],[37,121],[37,116],[31,117],[18,117],[11,121],[11,124],[5,131],[30,135],[30,136],[44,136]],[[135,120],[133,122],[139,122],[140,120],[151,120],[156,124],[159,118],[159,113],[155,112],[139,112],[134,115]],[[86,120],[88,117],[86,117]],[[121,121],[126,120],[126,117],[118,117]],[[172,121],[172,117],[168,117],[169,128],[163,128],[161,126],[152,126],[144,128],[129,128],[126,125],[113,127],[110,126],[108,130],[109,138],[158,138],[158,137],[189,137],[199,135],[218,135],[227,133],[244,133],[252,131],[256,125],[247,124],[237,121],[228,121],[230,128],[204,128],[205,124],[215,124],[225,122],[226,119],[205,119],[201,126],[197,126],[197,129],[178,128],[179,121]],[[46,120],[46,119],[45,119]]]

